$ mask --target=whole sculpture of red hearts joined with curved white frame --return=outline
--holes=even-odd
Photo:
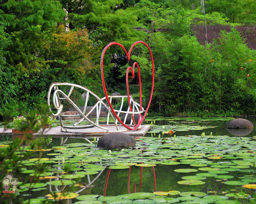
[[[125,52],[127,59],[130,60],[131,51],[133,50],[133,47],[137,44],[144,45],[147,47],[147,49],[150,53],[150,58],[151,58],[151,62],[152,62],[152,88],[151,88],[151,94],[150,94],[148,106],[145,110],[142,107],[140,67],[137,62],[133,63],[133,67],[128,66],[126,69],[127,96],[108,96],[108,93],[106,90],[106,85],[104,82],[103,59],[104,59],[104,54],[105,54],[106,50],[112,45],[119,46]],[[147,111],[149,109],[149,106],[150,106],[150,103],[152,100],[153,88],[154,88],[154,62],[153,62],[153,55],[152,55],[152,52],[151,52],[149,46],[143,41],[136,41],[135,43],[133,43],[133,45],[131,45],[129,52],[127,52],[125,50],[125,48],[123,47],[123,45],[121,45],[120,43],[116,43],[116,42],[109,43],[102,51],[100,66],[101,66],[101,81],[102,81],[103,91],[104,91],[104,95],[105,95],[104,98],[99,98],[99,96],[97,96],[95,93],[93,93],[88,88],[83,87],[83,86],[79,86],[79,85],[75,85],[75,84],[71,84],[71,83],[52,83],[52,85],[49,89],[49,92],[48,92],[48,96],[47,96],[47,104],[51,111],[51,108],[50,108],[51,93],[52,93],[52,91],[54,91],[53,96],[52,96],[52,103],[53,103],[54,108],[57,109],[57,113],[53,114],[53,116],[59,116],[60,123],[61,123],[61,131],[66,131],[66,129],[91,128],[94,126],[104,129],[106,131],[109,131],[108,126],[110,126],[110,125],[113,126],[113,124],[109,124],[110,117],[114,121],[114,126],[116,127],[116,131],[121,131],[118,128],[118,126],[125,127],[127,129],[127,131],[128,130],[136,130],[136,129],[140,128],[140,125],[141,125],[143,119],[147,115]],[[137,103],[135,100],[133,100],[132,96],[130,96],[130,94],[129,94],[129,85],[128,85],[129,84],[129,81],[128,81],[129,76],[128,76],[128,74],[129,74],[129,72],[131,72],[131,74],[134,78],[135,69],[138,70],[139,87],[140,87],[140,103]],[[69,86],[70,90],[68,91],[67,89],[64,89],[65,91],[62,91],[60,89],[60,86]],[[71,88],[70,88],[70,86],[71,86]],[[72,101],[71,93],[74,92],[73,91],[74,88],[80,88],[80,89],[84,90],[84,92],[86,93],[83,111],[81,111],[79,109],[79,107],[74,103],[74,101]],[[66,92],[68,92],[68,93],[66,94]],[[93,108],[88,113],[86,113],[86,107],[87,107],[90,95],[94,96],[97,99],[97,102],[94,104]],[[116,106],[114,106],[115,108],[113,108],[113,105],[111,104],[113,98],[121,98],[120,107],[116,108]],[[128,108],[126,110],[123,110],[123,103],[124,103],[125,99],[128,101]],[[76,111],[79,114],[63,115],[62,114],[62,110],[63,110],[62,101],[68,101],[76,109]],[[99,124],[99,116],[100,116],[102,106],[104,106],[108,112],[107,121],[106,121],[106,124],[104,124],[104,125]],[[95,122],[91,121],[91,119],[89,119],[89,117],[88,117],[94,109],[96,109],[96,121]],[[124,121],[121,121],[120,113],[123,113],[125,115]],[[144,113],[144,114],[142,115],[141,113]],[[131,115],[131,121],[130,121],[130,124],[128,125],[128,124],[126,124],[126,118],[129,114]],[[135,119],[134,119],[135,114],[138,114],[138,121],[135,121]],[[67,125],[64,125],[62,122],[63,116],[65,116],[65,117],[80,116],[81,119],[79,119],[76,123],[74,123],[73,126],[67,126]],[[86,125],[86,126],[79,125],[79,123],[81,123],[81,121],[83,121],[84,119],[89,122],[89,125]]]

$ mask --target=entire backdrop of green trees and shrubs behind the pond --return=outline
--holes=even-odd
[[[254,1],[205,1],[206,23],[249,25],[254,22]],[[137,40],[148,43],[155,59],[153,112],[253,114],[255,51],[234,29],[223,31],[211,45],[200,45],[191,27],[202,24],[200,2],[194,0],[4,0],[0,5],[0,115],[39,108],[55,81],[87,86],[103,96],[99,71],[103,46],[117,41],[129,48]],[[123,66],[120,70],[126,73],[126,62],[113,68],[113,54],[124,53],[111,46],[105,54],[107,88],[124,94],[125,80],[116,72]],[[152,83],[148,50],[139,46],[131,55],[131,63],[140,64],[143,106],[147,106]],[[138,93],[138,86],[132,88]],[[80,103],[81,94],[77,92],[73,100]]]

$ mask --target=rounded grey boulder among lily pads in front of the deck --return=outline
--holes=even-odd
[[[125,133],[108,133],[99,138],[97,147],[103,149],[128,149],[134,147],[136,140]]]

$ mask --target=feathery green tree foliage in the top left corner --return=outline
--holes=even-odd
[[[8,23],[10,33],[37,25],[42,25],[43,29],[51,28],[64,21],[65,12],[56,0],[3,0],[0,15]]]

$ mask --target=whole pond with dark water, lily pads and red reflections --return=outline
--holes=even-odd
[[[256,190],[255,130],[231,135],[225,128],[231,119],[148,118],[153,128],[136,138],[133,150],[98,149],[93,139],[90,144],[84,138],[38,138],[42,149],[18,161],[20,173],[8,169],[19,179],[17,203],[249,202]],[[255,118],[249,120],[256,125]],[[2,139],[0,147],[9,143]],[[31,146],[25,142],[16,154]],[[44,172],[35,175],[42,165]]]

